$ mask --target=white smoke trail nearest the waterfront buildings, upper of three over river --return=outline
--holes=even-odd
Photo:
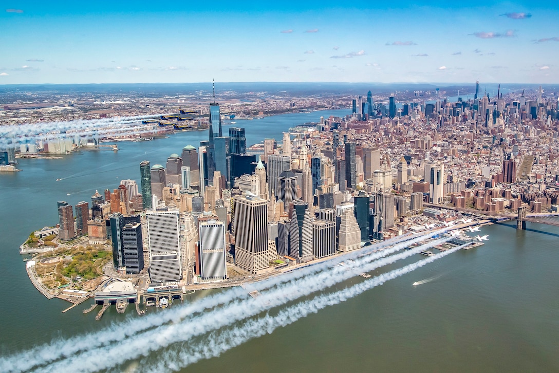
[[[411,237],[411,239],[405,240],[404,242],[400,242],[403,239],[391,240],[391,243],[400,242],[400,244],[395,245],[390,249],[386,249],[385,251],[373,253],[371,256],[364,256],[363,258],[359,258],[359,259],[361,260],[361,262],[372,261],[382,256],[386,256],[387,254],[399,251],[406,245],[419,242],[420,240],[424,240],[429,235],[438,234],[443,231],[444,229],[439,230],[437,232],[433,232],[428,235]],[[448,240],[448,238],[445,240]],[[372,245],[371,247],[369,247],[368,251],[370,252],[373,250],[378,250],[379,248],[387,244],[388,241],[383,243],[383,245]],[[435,244],[438,244],[438,242],[430,243],[429,247]],[[420,249],[423,249],[423,247],[421,247]],[[414,252],[418,252],[420,249],[416,249],[414,250]],[[356,251],[348,254],[349,255],[343,256],[342,258],[334,257],[330,261],[318,263],[317,265],[314,266],[304,267],[301,268],[300,271],[286,273],[285,275],[277,276],[276,278],[270,278],[269,280],[260,281],[252,285],[257,290],[267,289],[269,287],[277,286],[282,282],[294,281],[297,278],[300,278],[302,276],[308,276],[312,273],[316,273],[324,270],[331,270],[332,262],[339,262],[342,260],[347,260],[349,258],[354,259],[360,255],[364,255],[363,251]],[[406,256],[409,256],[408,253],[404,253],[404,254],[406,254]],[[352,273],[345,270],[345,268],[334,267],[334,271],[345,272],[345,274],[349,275],[349,277],[353,276]],[[330,279],[335,278],[332,276],[331,271],[328,272],[326,277],[329,277]],[[299,287],[300,287],[299,282],[296,282],[291,285],[290,291],[292,292],[293,295],[300,294],[298,296],[302,296],[301,289],[298,289]],[[273,294],[276,294],[276,292],[274,292]],[[310,293],[308,293],[307,291],[307,294]],[[134,334],[140,332],[141,330],[158,327],[159,325],[162,325],[169,321],[178,322],[182,320],[184,317],[188,317],[195,313],[200,313],[205,309],[215,308],[220,304],[228,304],[229,302],[241,297],[243,298],[247,297],[245,291],[239,288],[230,289],[222,294],[206,297],[203,300],[198,301],[194,304],[182,306],[181,308],[178,309],[170,309],[163,314],[149,315],[148,318],[132,319],[129,322],[121,323],[119,325],[113,325],[111,328],[101,330],[100,332],[97,333],[90,334],[87,337],[74,337],[74,338],[67,339],[66,341],[55,341],[50,345],[35,347],[28,352],[23,352],[14,356],[9,361],[4,361],[4,362],[0,361],[0,367],[3,366],[4,368],[6,368],[2,370],[15,370],[15,371],[28,370],[31,369],[31,367],[35,365],[39,365],[41,363],[54,361],[59,358],[70,357],[74,353],[77,353],[79,351],[87,351],[88,349],[94,347],[104,346],[112,342],[119,341],[122,337],[134,336]],[[252,298],[249,299],[249,301],[251,300]],[[12,362],[12,363],[15,362],[15,363],[13,365],[10,364],[6,365],[8,362]],[[10,367],[10,369],[8,369],[8,367]]]

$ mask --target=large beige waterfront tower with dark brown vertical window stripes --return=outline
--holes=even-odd
[[[269,267],[268,203],[250,192],[235,196],[235,265],[255,274]]]

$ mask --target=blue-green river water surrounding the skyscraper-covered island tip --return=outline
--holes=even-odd
[[[245,127],[248,144],[263,138],[281,141],[282,131],[331,114],[349,111],[236,120],[235,126]],[[139,181],[142,160],[165,164],[171,153],[205,139],[207,131],[182,132],[121,142],[118,152],[21,159],[22,172],[0,175],[2,356],[138,317],[134,308],[125,315],[110,308],[96,321],[93,313],[82,314],[89,302],[61,314],[69,304],[48,300],[31,285],[18,246],[33,230],[56,223],[56,201],[89,201],[96,189],[112,190],[127,178]],[[485,226],[480,234],[489,234],[489,241],[479,248],[453,253],[183,371],[559,370],[559,229],[528,223],[527,230],[517,231],[506,223]],[[387,270],[401,266],[395,263]],[[362,278],[339,286],[357,281]],[[413,286],[416,281],[424,283]],[[131,366],[141,370],[137,363]]]

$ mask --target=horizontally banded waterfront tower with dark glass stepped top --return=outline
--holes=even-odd
[[[290,226],[290,256],[297,259],[297,263],[312,260],[312,221],[309,205],[298,201],[293,204]]]

